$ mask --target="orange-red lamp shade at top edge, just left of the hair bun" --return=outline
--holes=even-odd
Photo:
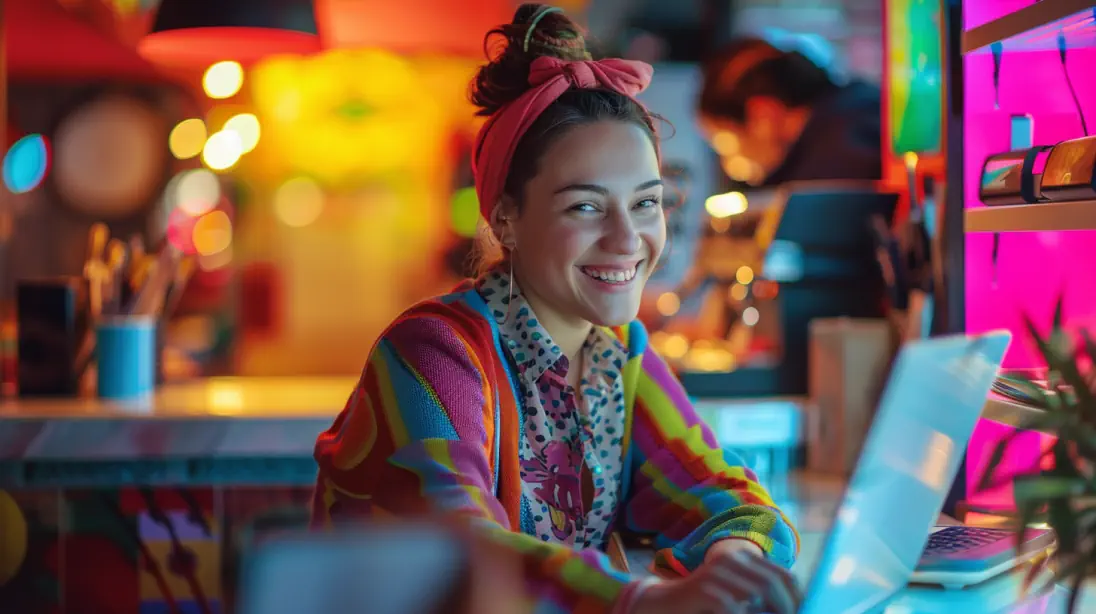
[[[482,57],[483,35],[513,16],[513,0],[315,0],[329,48]]]

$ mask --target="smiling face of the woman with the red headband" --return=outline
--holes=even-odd
[[[509,221],[514,274],[537,316],[635,319],[666,242],[659,160],[644,130],[615,121],[569,129],[541,156],[524,197]]]

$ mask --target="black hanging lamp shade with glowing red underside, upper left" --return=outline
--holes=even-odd
[[[161,66],[253,64],[320,50],[310,0],[162,0],[141,56]]]

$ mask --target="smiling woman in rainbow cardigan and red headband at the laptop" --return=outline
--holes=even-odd
[[[469,518],[523,557],[528,611],[791,614],[795,530],[636,319],[666,235],[635,99],[651,67],[592,60],[540,4],[488,42],[475,174],[498,258],[374,346],[317,442],[313,525]],[[653,539],[665,579],[614,568],[619,532]]]

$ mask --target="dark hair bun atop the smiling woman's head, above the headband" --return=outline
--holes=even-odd
[[[488,62],[477,71],[469,93],[479,115],[491,115],[525,93],[536,58],[590,58],[579,24],[549,4],[533,2],[518,7],[511,23],[488,32],[483,50]]]

